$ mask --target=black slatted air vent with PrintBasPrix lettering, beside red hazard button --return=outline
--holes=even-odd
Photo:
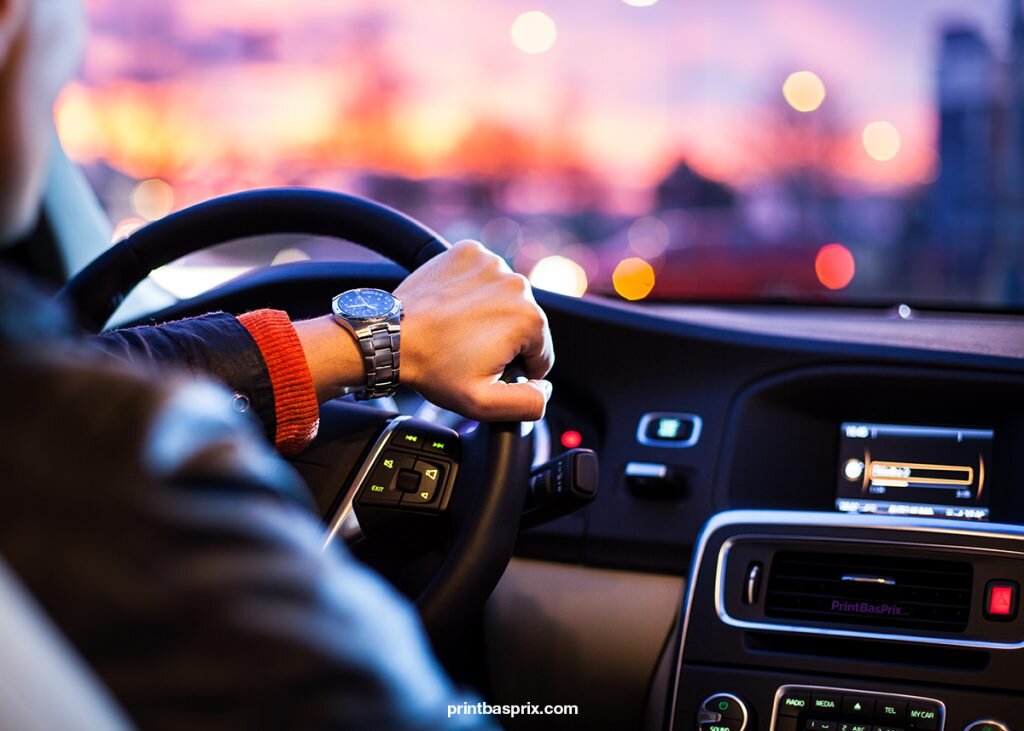
[[[973,579],[965,562],[783,551],[771,562],[765,613],[815,624],[963,632]]]

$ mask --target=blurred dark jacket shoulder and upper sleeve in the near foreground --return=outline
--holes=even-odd
[[[0,358],[0,554],[139,728],[492,728],[228,393],[86,360]]]

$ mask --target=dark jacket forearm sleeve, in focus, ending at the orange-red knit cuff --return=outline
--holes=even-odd
[[[110,355],[144,368],[185,369],[234,392],[238,411],[251,411],[272,439],[276,430],[273,385],[256,341],[225,312],[159,326],[126,328],[93,338]]]

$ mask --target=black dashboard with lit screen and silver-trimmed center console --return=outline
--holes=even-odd
[[[342,289],[399,277],[291,264],[160,316],[267,305],[313,316]],[[591,505],[521,532],[520,560],[626,587],[629,573],[688,576],[656,673],[628,679],[635,695],[609,690],[634,651],[614,644],[634,636],[627,624],[571,635],[615,649],[583,674],[592,715],[565,728],[639,727],[646,687],[650,729],[1024,727],[1024,318],[537,297],[557,363],[536,458],[592,448],[600,483]],[[406,397],[402,411],[455,426]],[[565,636],[580,624],[527,606],[509,612],[516,652],[544,644],[539,621]],[[560,702],[581,671],[544,656],[551,670],[508,673]]]

